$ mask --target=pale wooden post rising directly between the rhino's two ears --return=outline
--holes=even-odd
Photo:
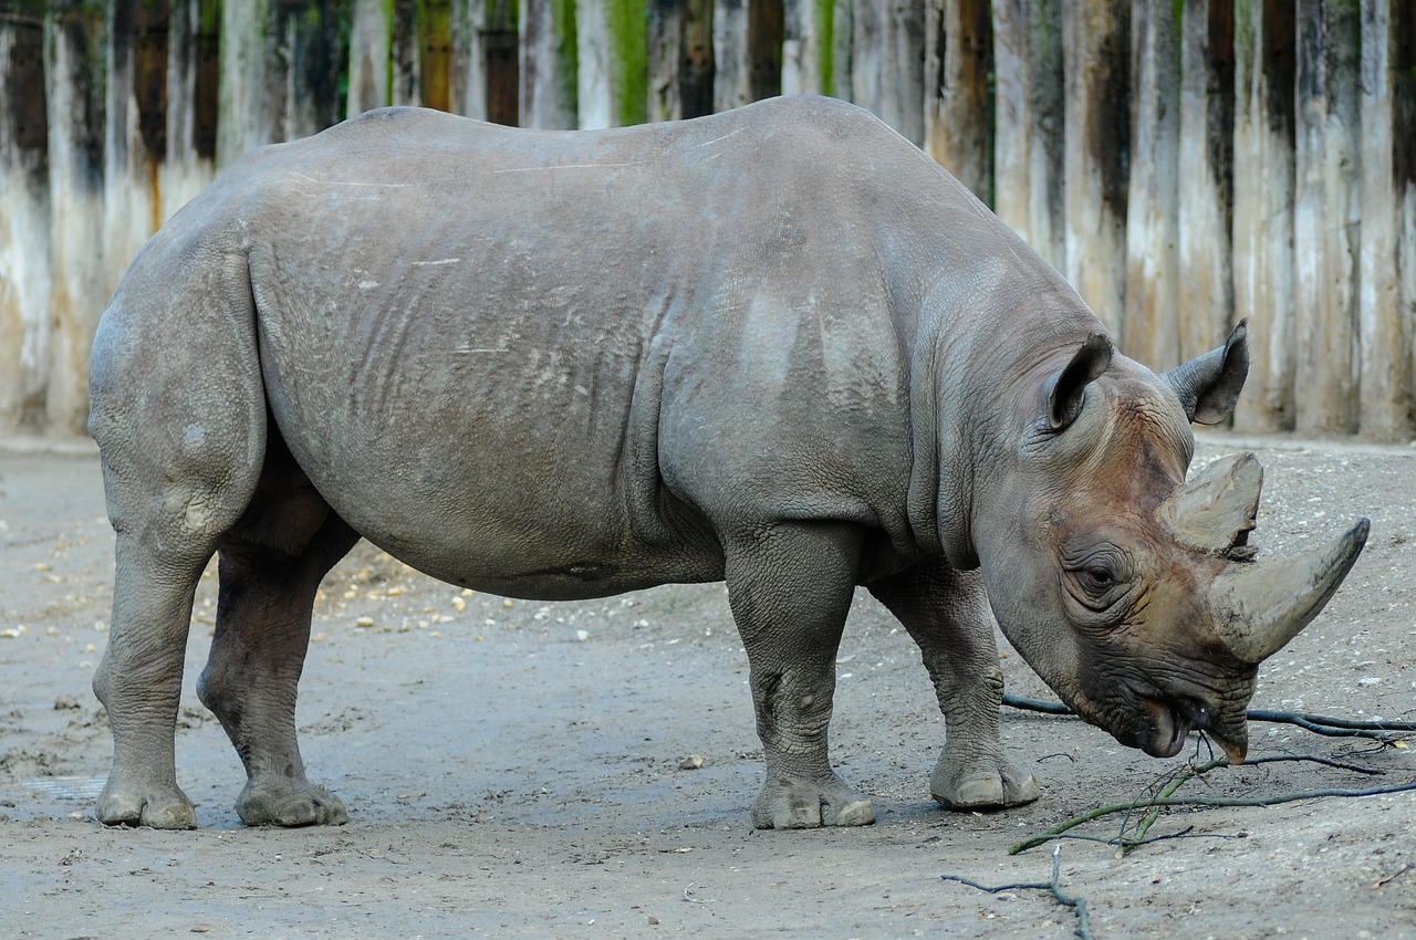
[[[1180,364],[1180,31],[1170,0],[1131,7],[1131,164],[1126,197],[1123,348],[1153,369]]]

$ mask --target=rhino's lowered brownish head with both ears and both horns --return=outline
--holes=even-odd
[[[1204,729],[1243,760],[1259,664],[1318,614],[1366,541],[1364,518],[1306,555],[1259,561],[1255,456],[1187,483],[1191,422],[1223,420],[1247,367],[1243,324],[1163,375],[1093,334],[1024,389],[1017,471],[978,483],[973,544],[1004,634],[1083,719],[1154,756]]]

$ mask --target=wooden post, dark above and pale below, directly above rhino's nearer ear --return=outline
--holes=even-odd
[[[1066,273],[1124,344],[1130,4],[1062,0]],[[1123,347],[1124,348],[1124,347]]]

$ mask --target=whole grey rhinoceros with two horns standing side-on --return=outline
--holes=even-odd
[[[946,807],[1038,797],[1003,753],[994,617],[1082,718],[1245,756],[1259,663],[1327,603],[1362,520],[1284,562],[1260,471],[1187,483],[1246,328],[1154,374],[933,160],[783,98],[605,132],[371,112],[234,163],[143,248],[96,331],[89,429],[116,579],[93,678],[108,824],[195,825],[173,733],[219,556],[201,701],[246,824],[338,824],[296,687],[320,579],[362,537],[528,599],[725,580],[762,828],[858,825],[827,729],[852,593],[919,644]],[[991,614],[990,616],[990,610]]]

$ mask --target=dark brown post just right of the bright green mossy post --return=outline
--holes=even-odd
[[[712,113],[712,0],[650,0],[649,120]]]

